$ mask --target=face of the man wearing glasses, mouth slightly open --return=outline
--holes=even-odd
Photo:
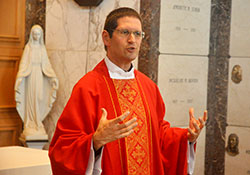
[[[142,26],[139,19],[129,16],[119,18],[117,24],[107,45],[107,55],[111,61],[120,66],[130,64],[138,56],[142,41],[139,35]]]

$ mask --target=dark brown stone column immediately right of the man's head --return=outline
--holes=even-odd
[[[146,35],[141,45],[138,69],[155,83],[158,77],[160,6],[160,0],[140,1],[140,14]]]

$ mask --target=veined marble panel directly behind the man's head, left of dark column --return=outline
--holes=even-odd
[[[87,71],[92,70],[106,55],[102,42],[105,19],[113,9],[119,7],[131,7],[139,12],[140,0],[109,0],[90,8]]]

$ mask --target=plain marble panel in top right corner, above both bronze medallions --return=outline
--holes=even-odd
[[[250,1],[233,0],[231,12],[230,55],[250,57]]]

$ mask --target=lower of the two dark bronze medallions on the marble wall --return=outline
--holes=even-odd
[[[236,156],[237,154],[239,154],[238,145],[239,145],[239,137],[234,133],[230,134],[227,140],[226,152],[230,156]]]

